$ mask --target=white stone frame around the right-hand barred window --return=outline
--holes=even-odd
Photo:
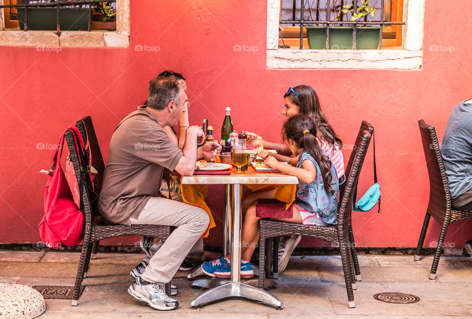
[[[279,49],[280,0],[267,0],[268,68],[419,70],[423,63],[425,0],[405,0],[403,46],[381,50]]]

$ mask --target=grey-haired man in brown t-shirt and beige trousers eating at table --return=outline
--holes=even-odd
[[[113,133],[98,203],[103,219],[111,224],[177,227],[128,289],[136,299],[158,310],[178,306],[164,286],[207,230],[209,221],[201,208],[158,197],[163,169],[192,175],[197,159],[211,158],[221,150],[216,142],[197,148],[197,138],[205,138],[197,126],[187,129],[183,150],[169,140],[162,128],[177,124],[186,102],[183,84],[175,77],[150,80],[147,106],[126,116]]]

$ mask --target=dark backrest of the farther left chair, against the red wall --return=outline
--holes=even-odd
[[[105,162],[103,161],[102,152],[100,151],[100,146],[98,145],[97,135],[95,134],[95,129],[93,128],[92,119],[90,116],[86,116],[83,119],[77,121],[75,126],[79,129],[84,143],[87,144],[87,142],[89,142],[90,154],[86,154],[86,156],[92,157],[92,166],[98,172],[95,179],[97,182],[95,193],[100,194],[103,184],[103,175],[105,174]]]

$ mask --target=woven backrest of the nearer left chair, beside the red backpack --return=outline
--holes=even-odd
[[[65,139],[67,141],[67,146],[69,147],[69,156],[70,160],[72,162],[72,165],[74,166],[74,171],[75,171],[75,176],[77,179],[81,178],[80,171],[81,170],[86,170],[86,168],[81,164],[79,161],[79,155],[77,154],[76,150],[76,145],[74,141],[74,137],[72,136],[72,133],[70,131],[67,131],[65,133]],[[78,146],[82,147],[82,146]],[[90,182],[90,177],[89,174],[85,174],[87,176],[87,180],[84,181],[83,183],[83,189],[79,189],[81,193],[81,200],[83,204],[83,211],[84,217],[85,217],[85,227],[91,227],[91,223],[93,221],[93,217],[98,214],[98,196],[94,195],[93,188],[92,188],[92,183]],[[80,184],[79,184],[80,185]],[[93,196],[93,198],[92,198]],[[82,205],[81,205],[82,206]]]

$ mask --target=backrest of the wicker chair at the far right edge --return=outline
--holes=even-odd
[[[451,208],[451,194],[442,162],[438,137],[434,126],[427,125],[423,120],[419,120],[418,125],[429,175],[428,213],[437,217],[437,213],[441,212],[442,218],[444,218],[446,210]]]

